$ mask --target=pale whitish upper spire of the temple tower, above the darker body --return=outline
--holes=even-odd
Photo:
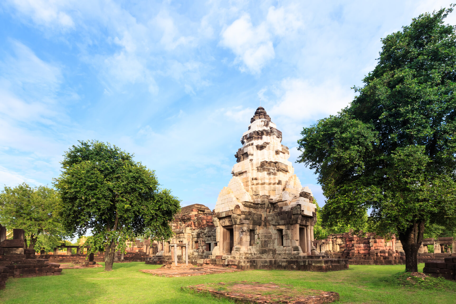
[[[290,210],[300,204],[304,214],[312,216],[312,192],[301,186],[288,160],[288,147],[281,142],[282,132],[259,107],[241,137],[242,148],[234,155],[237,163],[231,172],[233,178],[220,192],[215,212],[233,210],[236,205],[256,208],[268,203]]]

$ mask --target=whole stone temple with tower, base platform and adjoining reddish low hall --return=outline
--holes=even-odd
[[[347,259],[319,254],[313,246],[316,205],[288,160],[282,132],[259,107],[241,137],[233,178],[223,187],[215,209],[183,207],[173,223],[176,237],[158,244],[146,263],[188,259],[199,266],[237,269],[341,270]],[[174,245],[179,252],[172,252]],[[177,248],[177,247],[176,247]],[[185,253],[184,253],[185,251]],[[180,253],[180,255],[179,255]],[[179,259],[180,256],[180,259]]]

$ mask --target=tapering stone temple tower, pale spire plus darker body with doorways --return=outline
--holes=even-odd
[[[212,258],[244,269],[280,268],[278,261],[308,260],[316,254],[312,192],[294,174],[290,152],[281,141],[282,132],[264,108],[257,108],[234,155],[233,178],[220,191],[213,212],[217,246]],[[300,268],[308,265],[301,263]]]

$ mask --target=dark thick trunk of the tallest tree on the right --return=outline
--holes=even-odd
[[[405,252],[405,271],[418,272],[418,260],[416,258],[418,249],[423,242],[423,234],[425,231],[425,222],[417,222],[409,226],[404,231],[398,230],[399,240],[402,243],[402,248]]]

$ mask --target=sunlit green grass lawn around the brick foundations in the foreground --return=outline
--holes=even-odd
[[[103,264],[103,263],[102,263]],[[422,271],[424,264],[420,264]],[[139,272],[160,266],[141,262],[114,263],[108,273],[104,268],[64,269],[60,276],[8,279],[0,290],[0,303],[229,303],[210,297],[187,294],[181,286],[228,281],[292,284],[295,288],[321,289],[340,294],[338,303],[453,304],[456,283],[451,290],[401,287],[382,280],[404,270],[404,265],[355,266],[328,273],[308,271],[252,270],[184,278],[162,278]]]

